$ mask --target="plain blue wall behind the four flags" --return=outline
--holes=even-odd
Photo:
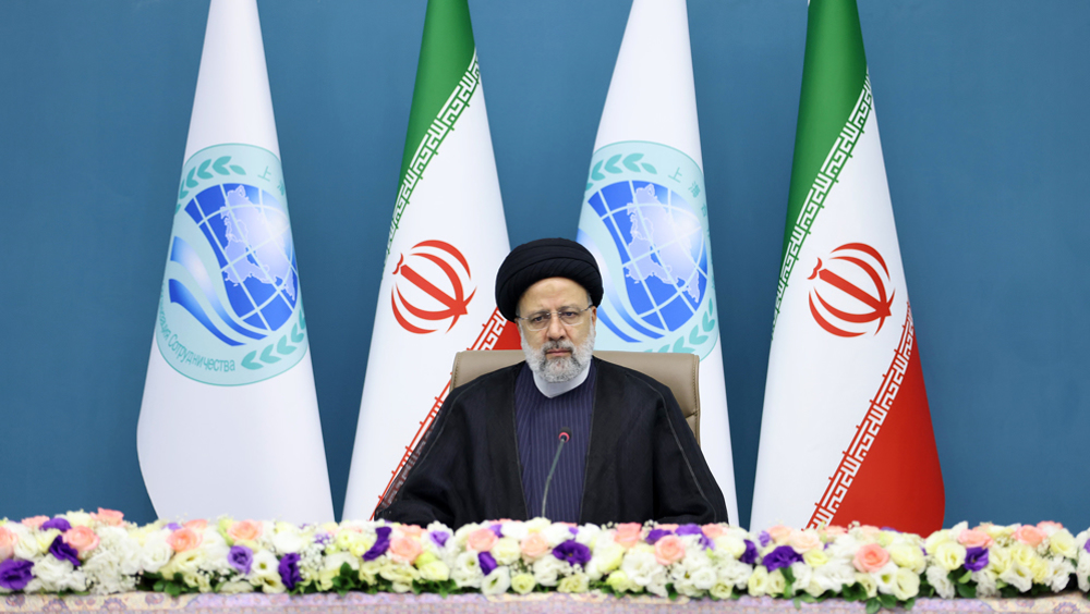
[[[1090,3],[860,3],[946,524],[1085,528]],[[629,1],[470,5],[511,243],[573,237]],[[806,11],[689,7],[743,524]],[[261,13],[339,511],[424,1]],[[154,518],[136,419],[206,16],[191,0],[0,2],[0,516]],[[230,451],[201,453],[231,470]]]

